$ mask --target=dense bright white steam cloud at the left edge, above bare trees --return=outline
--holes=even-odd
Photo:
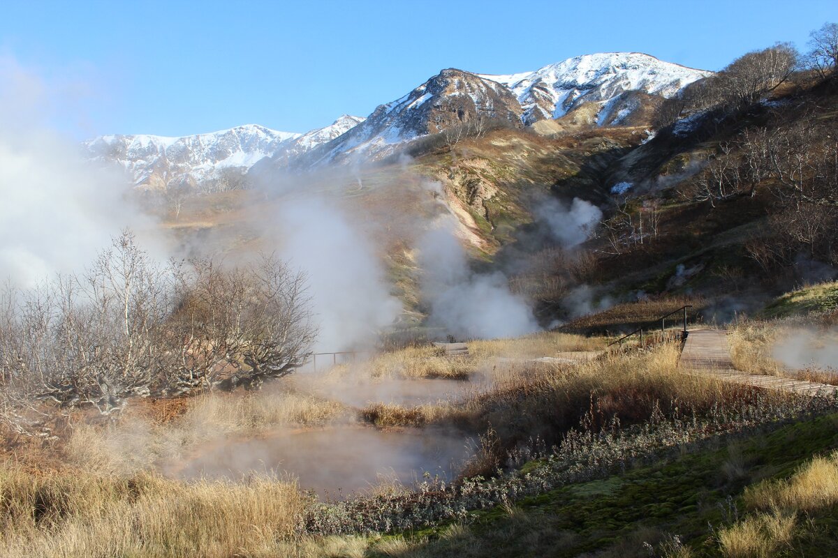
[[[151,229],[121,177],[49,129],[48,105],[43,79],[0,58],[0,279],[24,288],[90,264],[121,228],[144,243]]]

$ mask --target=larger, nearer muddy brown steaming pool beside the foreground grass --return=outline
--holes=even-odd
[[[230,439],[165,467],[177,479],[242,479],[253,473],[291,474],[323,498],[364,493],[382,481],[410,487],[424,473],[453,480],[472,455],[465,436],[432,428],[382,431],[337,426],[282,430]]]

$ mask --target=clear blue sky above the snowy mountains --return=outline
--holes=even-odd
[[[53,84],[73,136],[308,131],[368,115],[442,68],[537,69],[639,51],[701,69],[805,49],[838,3],[795,0],[39,2],[6,0],[0,56]]]

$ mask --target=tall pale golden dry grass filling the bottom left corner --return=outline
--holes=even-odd
[[[0,555],[266,555],[298,529],[295,483],[180,483],[82,471],[34,476],[0,468]]]

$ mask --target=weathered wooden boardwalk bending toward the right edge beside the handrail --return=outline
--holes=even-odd
[[[802,395],[831,395],[838,392],[838,386],[734,370],[727,334],[723,330],[691,330],[686,337],[679,366],[690,374],[714,376],[722,381]]]

